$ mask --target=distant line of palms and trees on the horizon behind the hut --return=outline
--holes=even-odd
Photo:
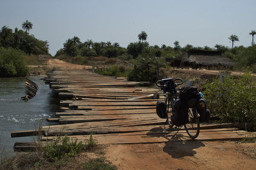
[[[252,46],[254,45],[253,36],[256,31],[250,32],[252,35]],[[180,46],[179,41],[173,42],[173,47],[167,45],[149,45],[147,42],[147,33],[141,31],[138,35],[138,42],[131,42],[127,48],[120,47],[119,43],[111,42],[93,42],[92,40],[87,40],[86,42],[81,42],[81,40],[74,36],[73,38],[68,38],[68,40],[63,43],[63,48],[56,52],[55,56],[67,55],[70,57],[74,56],[107,56],[108,58],[116,58],[118,56],[130,56],[132,58],[138,58],[138,56],[149,55],[149,56],[165,56],[168,59],[172,59],[175,56],[179,56],[182,52],[186,52],[191,49],[197,50],[220,50],[222,52],[227,52],[228,57],[232,59],[230,51],[236,53],[236,49],[243,49],[246,47],[234,47],[234,42],[239,41],[237,35],[231,35],[228,37],[232,41],[232,49],[227,46],[216,44],[214,48],[204,46],[204,47],[194,47],[191,44],[187,44],[184,47]]]

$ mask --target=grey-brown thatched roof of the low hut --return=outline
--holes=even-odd
[[[184,52],[174,61],[180,61],[180,66],[185,63],[191,63],[195,65],[204,66],[234,66],[235,63],[231,59],[227,58],[221,51],[210,51],[210,50],[189,50]]]

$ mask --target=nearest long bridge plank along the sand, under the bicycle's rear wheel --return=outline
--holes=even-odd
[[[173,137],[175,131],[167,132],[131,132],[122,134],[94,134],[93,139],[98,144],[140,144],[140,143],[165,143],[168,141],[227,141],[238,140],[246,137],[249,132],[237,129],[218,129],[214,131],[201,130],[196,139],[191,139],[186,130],[180,130],[176,137]],[[73,139],[77,141],[86,141],[90,135],[74,135]],[[43,140],[51,140],[55,137],[43,137]]]

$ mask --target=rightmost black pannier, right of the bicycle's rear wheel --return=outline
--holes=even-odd
[[[207,101],[205,98],[200,98],[200,100],[198,100],[198,103],[196,104],[196,110],[200,114],[200,123],[209,121],[211,112],[209,109],[207,109]]]

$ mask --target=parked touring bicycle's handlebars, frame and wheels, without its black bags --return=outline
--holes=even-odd
[[[180,81],[180,82],[178,82]],[[173,79],[173,78],[168,78],[168,79],[162,79],[161,81],[157,81],[156,85],[163,89],[163,93],[165,93],[166,97],[164,99],[164,104],[166,105],[166,122],[172,128],[174,126],[172,122],[172,115],[174,115],[174,102],[179,98],[179,93],[177,91],[177,87],[183,84],[182,79]],[[179,88],[179,92],[182,89]],[[198,118],[198,111],[196,110],[195,107],[188,107],[188,118],[185,120],[186,123],[184,123],[184,128],[192,139],[195,139],[198,137],[199,132],[200,132],[200,121]],[[183,126],[183,125],[182,125]],[[180,126],[180,128],[182,128]],[[180,130],[179,128],[179,130]],[[177,132],[179,132],[177,130]],[[177,134],[177,133],[176,133]],[[176,135],[175,134],[175,135]]]

